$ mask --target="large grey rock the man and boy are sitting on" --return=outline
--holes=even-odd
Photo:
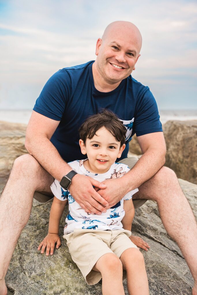
[[[181,179],[179,182],[197,217],[197,185]],[[34,201],[30,219],[22,231],[6,275],[7,286],[14,295],[101,295],[101,282],[95,286],[85,283],[63,238],[61,247],[53,256],[47,257],[37,251],[48,232],[50,207],[51,204],[40,205]],[[66,211],[68,208],[61,219],[60,235],[63,235]],[[148,252],[141,250],[150,295],[191,295],[193,278],[177,244],[167,235],[154,201],[147,201],[136,209],[132,231],[151,246]],[[124,288],[128,294],[126,280]]]

